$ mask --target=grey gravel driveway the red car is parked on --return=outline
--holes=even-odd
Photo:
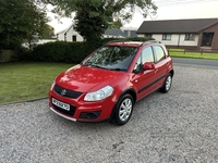
[[[73,123],[48,100],[0,105],[0,162],[218,163],[218,71],[174,66],[173,85],[128,124]]]

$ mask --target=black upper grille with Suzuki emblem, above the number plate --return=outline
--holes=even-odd
[[[62,97],[68,97],[68,98],[73,98],[73,99],[78,98],[83,93],[83,92],[80,92],[80,91],[73,91],[73,90],[70,90],[70,89],[65,89],[65,88],[60,87],[58,85],[55,85],[53,90]]]

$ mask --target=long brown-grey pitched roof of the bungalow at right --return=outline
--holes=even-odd
[[[144,21],[136,34],[199,33],[218,24],[218,18]]]

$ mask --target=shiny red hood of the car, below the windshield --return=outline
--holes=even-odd
[[[88,92],[110,85],[124,75],[124,72],[76,65],[61,73],[56,78],[56,84],[71,90]]]

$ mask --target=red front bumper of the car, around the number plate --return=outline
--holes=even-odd
[[[52,103],[52,98],[70,104],[70,111],[61,110]],[[49,106],[56,114],[73,122],[101,122],[110,118],[116,101],[113,97],[97,102],[86,102],[84,95],[77,99],[62,97],[53,90],[49,91]]]

